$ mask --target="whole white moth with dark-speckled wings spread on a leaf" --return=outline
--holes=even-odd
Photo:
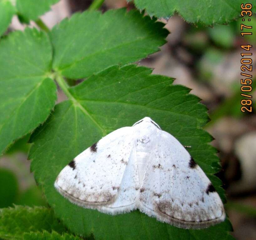
[[[113,215],[138,208],[182,228],[225,219],[222,201],[202,169],[148,117],[80,153],[54,185],[70,202]]]

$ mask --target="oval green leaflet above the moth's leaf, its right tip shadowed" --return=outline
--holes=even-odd
[[[159,50],[168,34],[161,22],[138,11],[76,13],[56,25],[50,38],[53,68],[63,76],[85,78],[115,64],[132,63]]]

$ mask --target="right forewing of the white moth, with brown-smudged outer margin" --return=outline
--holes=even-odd
[[[210,180],[165,131],[152,149],[139,200],[142,212],[177,227],[199,229],[225,219],[222,201]]]

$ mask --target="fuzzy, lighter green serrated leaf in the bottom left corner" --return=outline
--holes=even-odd
[[[66,232],[63,224],[46,207],[22,207],[0,209],[0,238],[23,239],[25,232],[43,230]]]

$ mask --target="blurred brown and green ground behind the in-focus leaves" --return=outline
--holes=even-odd
[[[73,12],[86,10],[90,4],[85,0],[61,0],[42,19],[52,27]],[[125,0],[105,0],[101,10],[122,7],[134,8]],[[253,45],[250,58],[255,63],[256,17],[251,17],[253,35],[248,37],[240,35],[239,18],[214,27],[191,25],[178,15],[168,22],[162,21],[171,32],[168,42],[161,51],[138,64],[154,68],[155,74],[176,78],[175,84],[191,88],[191,93],[207,106],[212,121],[205,130],[215,138],[212,145],[219,150],[223,170],[217,175],[227,191],[226,209],[234,228],[232,235],[238,240],[256,239],[256,115],[240,111],[240,53],[245,52],[240,45]],[[8,31],[23,28],[14,17]],[[254,67],[255,64],[253,76]],[[60,91],[58,96],[58,102],[65,99]],[[255,103],[256,100],[253,108]],[[18,140],[0,159],[0,208],[13,203],[47,206],[29,170],[28,138]]]

